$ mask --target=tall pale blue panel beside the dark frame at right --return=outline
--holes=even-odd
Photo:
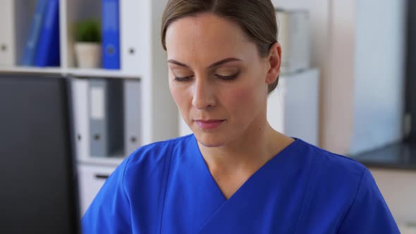
[[[405,0],[356,1],[350,154],[402,137]]]

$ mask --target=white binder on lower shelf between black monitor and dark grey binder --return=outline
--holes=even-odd
[[[88,79],[71,79],[75,152],[78,161],[86,161],[90,157],[88,87]]]

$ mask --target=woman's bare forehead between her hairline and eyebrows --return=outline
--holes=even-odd
[[[203,57],[206,60],[227,56],[246,56],[255,44],[237,23],[204,13],[176,20],[166,30],[169,58],[182,60]]]

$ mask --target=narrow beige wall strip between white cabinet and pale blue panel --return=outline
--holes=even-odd
[[[346,154],[353,128],[355,1],[330,1],[328,76],[322,97],[324,149]]]

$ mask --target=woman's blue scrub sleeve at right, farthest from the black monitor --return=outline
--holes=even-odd
[[[338,233],[400,233],[389,207],[367,168]]]

